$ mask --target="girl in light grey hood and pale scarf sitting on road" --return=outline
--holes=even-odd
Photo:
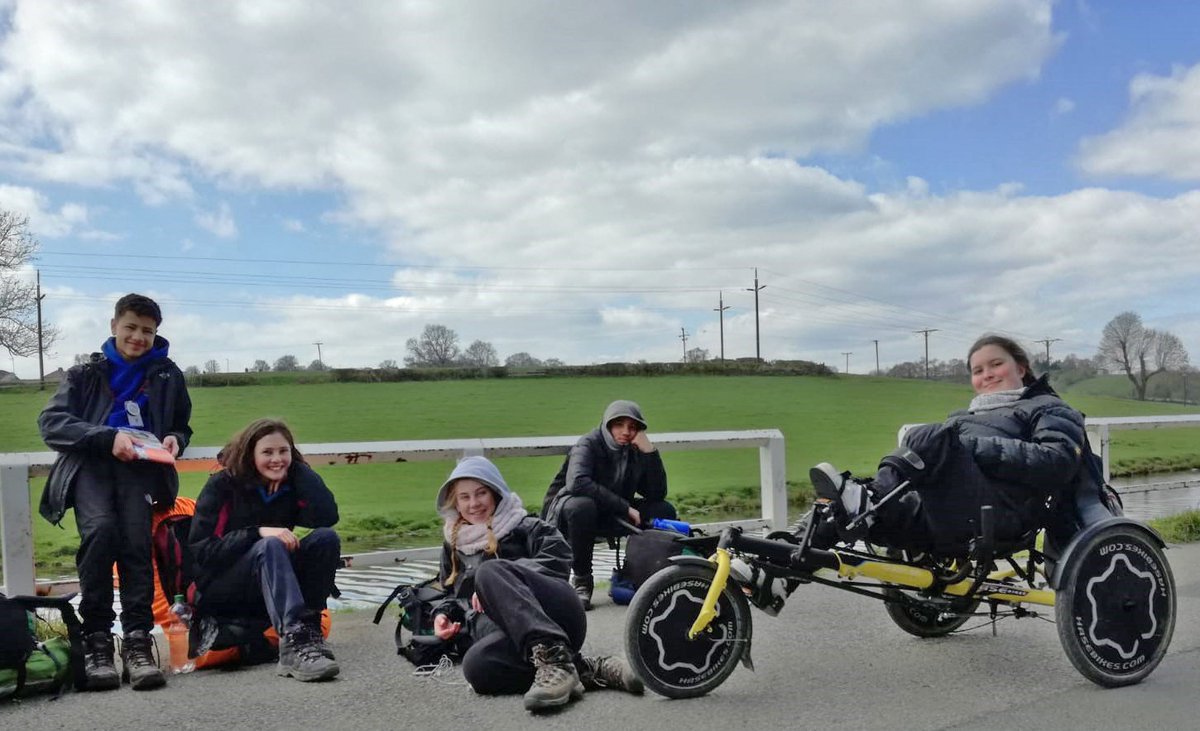
[[[629,665],[583,657],[587,618],[566,582],[571,550],[550,523],[526,514],[486,457],[467,457],[438,490],[444,520],[433,633],[467,646],[462,675],[479,694],[524,694],[529,711],[582,697],[584,689],[642,693]]]

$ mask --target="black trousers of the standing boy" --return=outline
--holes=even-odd
[[[76,475],[73,491],[79,550],[79,615],[83,631],[112,631],[113,563],[121,580],[121,628],[154,628],[154,563],[150,495],[162,469],[150,462],[89,460]]]

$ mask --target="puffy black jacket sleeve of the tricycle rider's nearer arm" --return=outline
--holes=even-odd
[[[1084,453],[1084,417],[1066,403],[1031,414],[1028,439],[962,435],[976,463],[990,477],[1010,483],[1067,483]]]

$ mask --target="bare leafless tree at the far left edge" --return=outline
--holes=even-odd
[[[14,274],[36,251],[29,217],[0,210],[0,348],[10,355],[37,353],[37,286]],[[42,349],[58,337],[58,330],[43,323]]]

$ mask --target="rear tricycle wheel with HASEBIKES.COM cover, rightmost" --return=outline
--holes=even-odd
[[[1140,683],[1171,643],[1175,601],[1175,576],[1156,538],[1136,525],[1112,526],[1068,556],[1055,595],[1058,640],[1093,683]]]

